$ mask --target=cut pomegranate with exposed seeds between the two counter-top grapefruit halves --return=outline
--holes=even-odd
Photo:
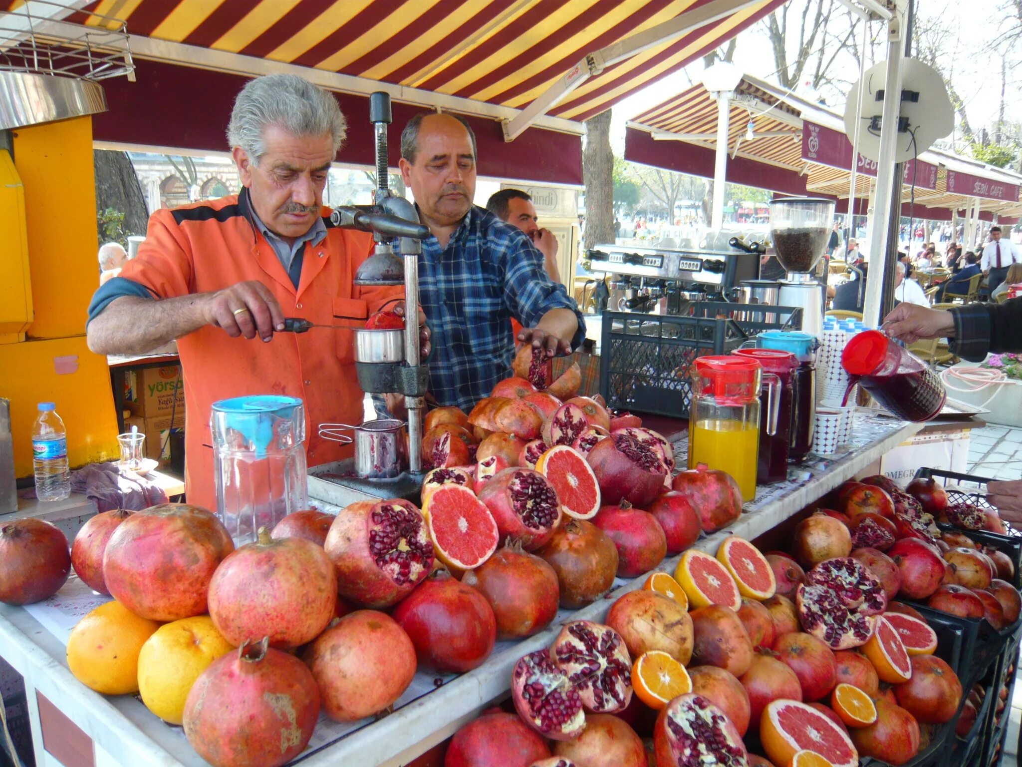
[[[479,500],[497,521],[501,542],[515,538],[527,551],[549,541],[561,521],[557,491],[528,468],[504,469],[483,486]]]

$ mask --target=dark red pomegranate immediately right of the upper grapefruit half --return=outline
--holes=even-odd
[[[622,500],[646,508],[663,490],[667,467],[649,444],[626,434],[600,440],[586,456],[604,503]],[[704,526],[705,529],[705,526]]]

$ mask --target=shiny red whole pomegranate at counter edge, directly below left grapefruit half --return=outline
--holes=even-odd
[[[412,639],[419,665],[440,672],[477,668],[497,642],[497,618],[486,598],[444,572],[406,596],[393,620]]]

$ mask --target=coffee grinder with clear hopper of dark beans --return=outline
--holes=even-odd
[[[771,240],[787,272],[780,306],[801,307],[802,331],[820,335],[824,326],[825,285],[815,270],[830,237],[834,201],[821,197],[781,197],[770,204]]]

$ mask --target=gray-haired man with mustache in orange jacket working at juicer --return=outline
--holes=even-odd
[[[250,81],[227,129],[244,188],[154,213],[138,257],[89,306],[93,352],[142,354],[178,340],[192,503],[216,506],[210,412],[217,400],[298,397],[309,465],[351,454],[320,439],[315,425],[362,422],[352,333],[278,333],[285,317],[361,327],[371,312],[404,295],[402,287],[353,284],[372,237],[332,227],[323,207],[345,128],[333,96],[301,78]]]

